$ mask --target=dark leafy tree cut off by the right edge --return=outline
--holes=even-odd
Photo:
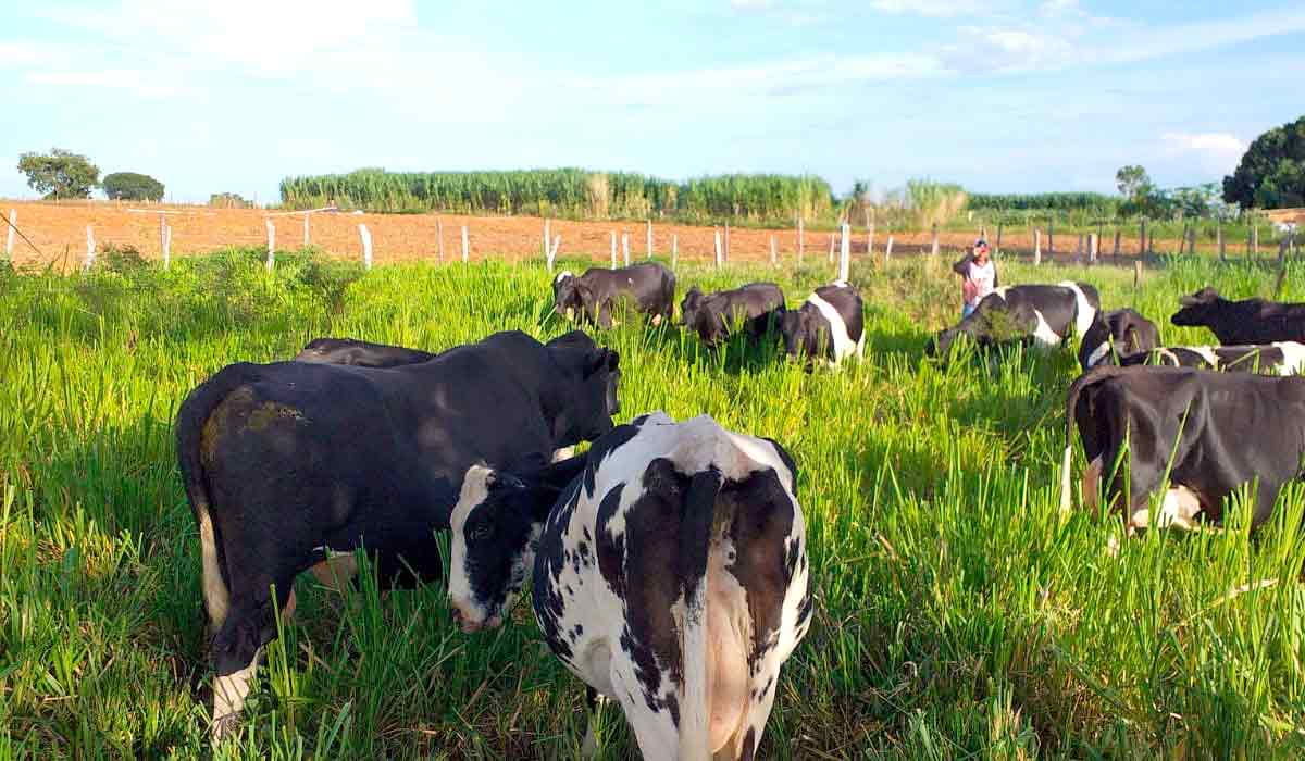
[[[1242,209],[1305,206],[1305,116],[1257,137],[1223,191]]]

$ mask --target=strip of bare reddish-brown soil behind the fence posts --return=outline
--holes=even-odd
[[[47,265],[72,269],[86,256],[87,226],[94,236],[97,249],[106,244],[133,245],[149,257],[163,256],[161,221],[166,219],[172,228],[172,256],[204,253],[232,245],[265,245],[270,221],[275,228],[275,247],[296,249],[312,244],[334,256],[363,256],[359,225],[367,225],[372,235],[373,264],[425,260],[440,261],[440,238],[442,227],[444,261],[459,261],[462,257],[462,226],[467,227],[470,258],[478,261],[485,257],[501,257],[509,261],[539,257],[543,255],[544,221],[536,217],[463,217],[457,214],[346,214],[317,213],[308,218],[304,228],[303,213],[277,213],[264,209],[210,209],[206,206],[161,206],[130,205],[112,201],[90,201],[73,204],[13,201],[0,202],[0,214],[8,217],[16,213],[16,225],[39,253],[27,245],[22,238],[14,236],[13,261],[18,266]],[[8,230],[8,225],[3,225]],[[647,255],[646,226],[643,222],[570,222],[555,219],[549,225],[551,234],[561,236],[560,256],[589,255],[595,261],[609,261],[612,232],[616,232],[617,258],[622,257],[622,238],[629,236],[630,260]],[[724,230],[722,244],[724,244]],[[874,253],[883,256],[893,236],[893,256],[912,256],[930,248],[929,231],[885,231],[874,236]],[[954,256],[974,241],[975,232],[942,232],[940,249]],[[1004,231],[1002,253],[1031,255],[1032,234],[1028,231]],[[754,230],[731,228],[728,234],[728,260],[766,261],[770,257],[770,241],[775,241],[776,257],[790,262],[799,257],[797,230]],[[3,238],[0,238],[3,240]],[[672,241],[677,245],[679,257],[684,261],[710,261],[715,249],[715,230],[713,227],[692,227],[685,225],[652,225],[652,249],[659,256],[669,253]],[[997,243],[996,234],[989,231],[989,240]],[[804,257],[827,257],[831,247],[837,249],[837,235],[829,231],[808,230],[803,235]],[[1048,241],[1043,236],[1043,255],[1047,257]],[[868,234],[864,227],[852,228],[851,252],[864,256],[868,249]],[[1069,258],[1075,255],[1078,235],[1058,235],[1054,239],[1056,258]],[[1171,251],[1177,241],[1155,241],[1156,251]],[[1101,241],[1100,252],[1105,261],[1111,260],[1114,240],[1111,234]],[[1121,239],[1121,258],[1135,257],[1138,239]],[[1241,253],[1237,251],[1237,253]]]

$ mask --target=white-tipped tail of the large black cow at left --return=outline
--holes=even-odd
[[[200,557],[204,573],[204,607],[209,613],[211,632],[226,620],[230,606],[226,553],[222,551],[222,531],[213,520],[209,503],[209,482],[204,473],[201,449],[204,428],[213,410],[243,384],[258,380],[256,365],[239,363],[227,365],[204,381],[181,402],[176,412],[176,459],[181,470],[181,483],[191,503],[194,525],[200,531]]]

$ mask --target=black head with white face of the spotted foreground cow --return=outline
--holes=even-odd
[[[548,513],[585,461],[573,457],[523,478],[484,465],[467,469],[449,516],[449,610],[463,632],[502,623],[530,580]]]

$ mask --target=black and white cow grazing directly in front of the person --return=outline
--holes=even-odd
[[[1028,338],[1036,346],[1064,346],[1071,333],[1084,335],[1096,320],[1101,299],[1096,288],[1070,281],[1054,286],[1009,286],[994,290],[979,307],[930,341],[925,354],[946,356],[959,335],[979,346],[1000,346]]]

